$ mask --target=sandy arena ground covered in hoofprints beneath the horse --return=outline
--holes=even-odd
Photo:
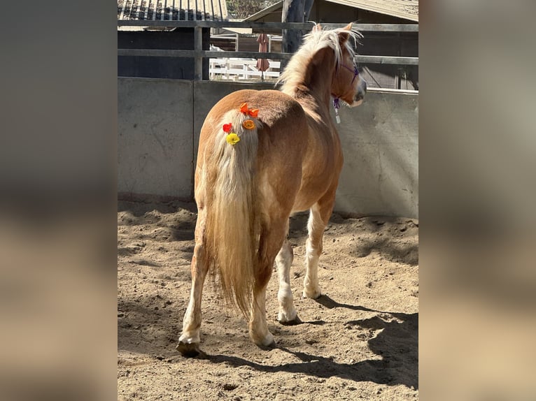
[[[175,347],[190,295],[195,204],[120,202],[118,400],[418,399],[418,221],[332,216],[318,300],[302,299],[306,215],[292,217],[292,293],[302,323],[267,316],[278,347],[262,350],[210,280],[204,358]]]

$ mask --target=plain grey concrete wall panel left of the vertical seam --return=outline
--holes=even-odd
[[[118,78],[118,192],[192,196],[193,83]]]

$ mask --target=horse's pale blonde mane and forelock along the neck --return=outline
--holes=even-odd
[[[362,38],[362,35],[358,31],[347,31],[344,28],[323,30],[318,27],[319,25],[316,25],[313,31],[304,36],[304,43],[294,56],[292,56],[292,59],[290,59],[285,67],[285,71],[279,75],[277,83],[283,84],[281,85],[281,92],[290,96],[294,94],[297,85],[302,83],[309,61],[311,61],[313,55],[320,49],[332,48],[335,51],[335,62],[340,66],[342,49],[339,44],[339,34],[341,32],[348,33],[350,38],[356,42],[359,38]],[[344,46],[353,58],[355,52],[350,43],[350,38],[348,38]]]

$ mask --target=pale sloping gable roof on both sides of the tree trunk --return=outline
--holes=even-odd
[[[404,18],[404,20],[418,22],[418,0],[325,0],[330,3],[343,4],[374,13],[391,15],[393,17]],[[247,17],[246,21],[256,21],[270,13],[283,9],[283,1],[260,10],[258,13]]]

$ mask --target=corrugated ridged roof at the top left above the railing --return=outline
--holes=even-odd
[[[225,0],[118,0],[118,20],[227,20]]]

